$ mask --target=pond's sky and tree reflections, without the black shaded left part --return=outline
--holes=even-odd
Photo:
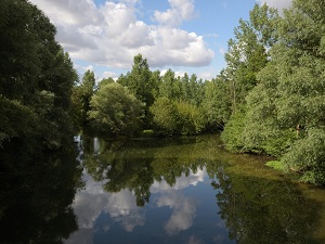
[[[321,244],[318,203],[261,158],[218,144],[86,139],[79,230],[66,243]]]

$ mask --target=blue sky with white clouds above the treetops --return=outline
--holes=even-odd
[[[214,78],[225,67],[227,40],[256,3],[283,10],[291,0],[30,0],[56,26],[80,79],[131,70],[139,53],[151,70]]]

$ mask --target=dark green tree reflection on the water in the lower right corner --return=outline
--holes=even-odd
[[[217,171],[217,202],[230,239],[238,244],[314,244],[320,206],[286,180]]]

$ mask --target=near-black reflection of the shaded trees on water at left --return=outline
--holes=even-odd
[[[28,159],[1,151],[1,160],[0,243],[63,243],[78,229],[72,208],[81,187],[76,154]]]

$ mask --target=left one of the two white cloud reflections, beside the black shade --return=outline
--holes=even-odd
[[[135,196],[129,190],[107,193],[102,188],[103,182],[95,182],[87,174],[83,175],[83,180],[86,188],[76,195],[74,203],[79,231],[65,243],[92,243],[93,233],[98,231],[94,223],[101,214],[108,214],[127,232],[144,224],[144,215],[135,204]],[[103,226],[102,230],[107,232],[109,226]]]

